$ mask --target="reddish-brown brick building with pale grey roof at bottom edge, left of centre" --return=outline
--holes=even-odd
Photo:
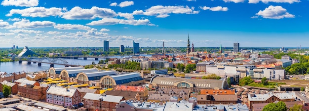
[[[87,93],[84,97],[84,108],[88,111],[116,111],[116,105],[124,100],[122,96]]]

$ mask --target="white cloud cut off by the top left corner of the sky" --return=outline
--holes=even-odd
[[[3,0],[1,5],[3,6],[38,6],[39,0]]]

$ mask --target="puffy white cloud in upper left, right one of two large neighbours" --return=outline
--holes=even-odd
[[[68,20],[80,20],[80,19],[95,19],[95,18],[107,18],[116,16],[117,16],[116,12],[109,8],[99,8],[93,6],[90,9],[83,9],[76,6],[68,12],[64,12],[62,18]]]

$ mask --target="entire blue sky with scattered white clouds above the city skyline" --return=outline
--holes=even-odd
[[[2,0],[0,47],[309,47],[309,0]]]

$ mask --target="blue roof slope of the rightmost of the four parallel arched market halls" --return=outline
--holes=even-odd
[[[130,83],[133,81],[140,81],[144,80],[140,73],[133,72],[133,73],[127,73],[127,74],[121,74],[121,75],[112,75],[111,76],[116,84],[124,84],[124,83]]]

